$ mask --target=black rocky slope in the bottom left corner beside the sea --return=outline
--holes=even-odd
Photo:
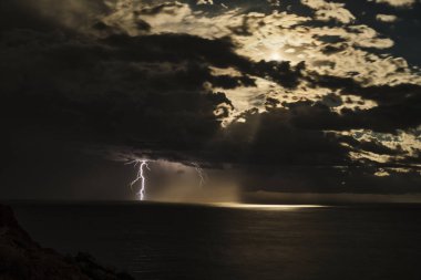
[[[79,253],[63,257],[34,242],[19,226],[13,211],[0,205],[1,280],[131,280],[126,273],[97,265],[92,257]]]

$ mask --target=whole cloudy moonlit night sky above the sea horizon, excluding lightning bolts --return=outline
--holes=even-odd
[[[418,0],[2,0],[2,199],[421,193]],[[206,173],[197,190],[195,164]]]

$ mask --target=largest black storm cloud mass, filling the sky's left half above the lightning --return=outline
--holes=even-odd
[[[254,84],[247,75],[210,73],[209,65],[250,68],[227,40],[184,34],[91,40],[10,29],[1,46],[1,114],[10,131],[37,126],[88,142],[194,149],[233,108],[224,93],[209,92],[204,83]],[[215,116],[218,105],[223,112]]]

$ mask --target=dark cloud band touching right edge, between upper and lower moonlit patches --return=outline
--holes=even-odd
[[[319,123],[326,128],[370,128],[393,132],[414,128],[421,123],[421,86],[418,84],[361,86],[352,79],[329,75],[316,75],[316,79],[311,77],[310,81],[315,86],[340,90],[345,96],[353,94],[378,103],[378,106],[370,110],[342,108],[341,115],[324,106],[314,106],[310,110],[322,118]],[[302,120],[302,123],[306,123],[306,120]]]

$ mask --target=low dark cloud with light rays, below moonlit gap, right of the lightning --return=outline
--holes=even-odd
[[[232,124],[216,148],[225,159],[263,165],[308,165],[336,166],[359,165],[352,162],[349,152],[366,151],[380,155],[404,156],[399,148],[384,146],[380,141],[357,141],[350,136],[339,136],[327,131],[348,131],[350,128],[376,128],[372,123],[386,122],[384,115],[358,115],[359,112],[338,114],[324,104],[309,102],[294,103],[289,108],[270,108],[266,113],[248,112],[242,117],[244,123]],[[367,113],[370,114],[370,113]],[[376,118],[377,117],[377,118]],[[367,122],[367,123],[366,123]],[[384,127],[390,122],[384,124]],[[383,127],[383,126],[380,126]],[[348,144],[348,145],[341,145]],[[408,160],[419,159],[408,157]],[[373,166],[381,164],[366,160]],[[388,163],[389,165],[398,163]],[[388,165],[386,164],[386,165]],[[408,163],[401,159],[402,165]]]

